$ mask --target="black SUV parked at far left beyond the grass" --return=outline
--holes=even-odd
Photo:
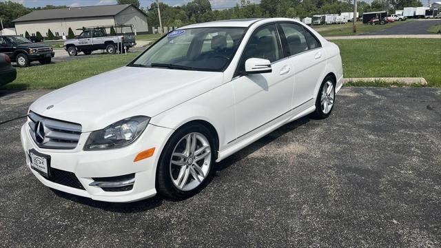
[[[19,35],[0,36],[0,52],[8,54],[19,67],[26,67],[32,61],[42,65],[50,63],[55,54],[50,46],[32,43]]]

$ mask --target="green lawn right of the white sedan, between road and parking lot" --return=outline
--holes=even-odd
[[[424,77],[441,87],[441,39],[335,40],[345,78]]]

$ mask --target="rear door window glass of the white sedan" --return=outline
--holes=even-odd
[[[283,33],[287,39],[288,56],[298,54],[300,52],[305,52],[308,50],[308,43],[303,32],[303,28],[300,25],[292,23],[280,23],[280,28],[282,28]]]

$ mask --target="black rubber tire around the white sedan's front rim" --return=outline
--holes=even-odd
[[[191,134],[194,132],[203,134],[203,136],[205,136],[209,141],[211,151],[209,170],[207,172],[207,176],[205,176],[205,179],[201,182],[200,185],[192,190],[182,191],[178,189],[178,187],[176,187],[172,182],[172,176],[170,173],[170,160],[172,159],[172,153],[174,152],[174,148],[176,147],[176,145],[178,145],[182,138],[185,137],[187,134]],[[158,167],[156,168],[156,190],[158,191],[158,193],[165,198],[169,198],[172,200],[183,200],[200,192],[209,183],[215,172],[215,147],[216,146],[214,145],[213,134],[209,131],[207,127],[203,125],[192,123],[176,130],[176,132],[174,132],[174,134],[167,141],[167,144],[165,145],[158,161]]]

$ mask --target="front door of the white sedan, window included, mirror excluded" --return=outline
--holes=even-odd
[[[250,58],[268,59],[272,72],[241,75]],[[259,127],[291,110],[293,72],[283,50],[275,24],[258,28],[249,38],[232,80],[235,99],[236,135],[246,138]]]

